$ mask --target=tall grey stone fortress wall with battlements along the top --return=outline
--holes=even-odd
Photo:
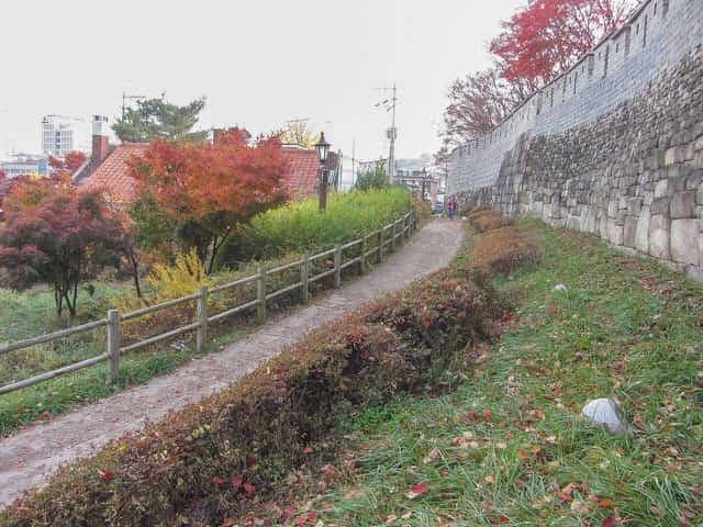
[[[703,278],[703,0],[649,0],[450,156],[460,206],[594,233]]]

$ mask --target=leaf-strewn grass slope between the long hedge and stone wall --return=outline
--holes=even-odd
[[[591,235],[520,225],[543,258],[496,278],[517,305],[500,338],[443,394],[341,424],[352,470],[328,487],[293,478],[276,505],[290,524],[703,525],[703,289]],[[634,433],[580,417],[596,397]]]

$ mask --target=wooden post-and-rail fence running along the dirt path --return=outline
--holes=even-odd
[[[193,294],[189,294],[187,296],[181,296],[179,299],[169,300],[168,302],[163,302],[160,304],[152,305],[149,307],[144,307],[142,310],[132,311],[130,313],[120,314],[118,310],[108,311],[107,318],[102,318],[94,322],[89,322],[88,324],[82,324],[80,326],[70,327],[67,329],[60,329],[58,332],[49,333],[46,335],[42,335],[38,337],[27,338],[25,340],[20,340],[18,343],[12,343],[10,345],[3,346],[0,348],[0,355],[8,354],[10,351],[14,351],[22,348],[27,348],[31,346],[35,346],[37,344],[47,343],[51,340],[56,340],[64,337],[69,337],[71,335],[76,335],[79,333],[88,332],[90,329],[96,329],[100,327],[107,327],[105,335],[105,351],[101,355],[92,357],[90,359],[82,360],[80,362],[75,362],[72,365],[58,368],[53,371],[48,371],[46,373],[42,373],[40,375],[35,375],[29,379],[24,379],[22,381],[14,382],[12,384],[8,384],[0,388],[0,394],[13,392],[20,390],[22,388],[31,386],[32,384],[36,384],[54,377],[60,375],[63,373],[68,373],[70,371],[76,371],[82,368],[87,368],[89,366],[93,366],[98,362],[102,362],[103,360],[108,362],[107,371],[108,371],[108,382],[115,382],[120,374],[120,356],[124,355],[129,351],[133,351],[135,349],[140,349],[161,340],[166,340],[183,333],[196,332],[196,350],[198,352],[202,351],[205,346],[205,340],[208,336],[208,324],[216,321],[221,321],[227,316],[234,315],[235,313],[239,313],[242,311],[256,307],[257,309],[257,319],[259,322],[264,322],[266,318],[266,302],[268,300],[276,299],[284,293],[289,293],[291,291],[295,291],[300,289],[300,301],[303,304],[306,304],[310,299],[310,284],[316,282],[317,280],[322,280],[326,277],[334,277],[334,287],[338,288],[342,284],[342,270],[352,267],[354,265],[359,265],[359,272],[361,274],[368,271],[368,258],[371,256],[376,256],[376,262],[380,264],[383,259],[384,254],[392,250],[392,248],[397,247],[401,242],[408,239],[410,235],[415,229],[415,215],[414,211],[411,210],[408,214],[404,214],[393,223],[390,223],[372,233],[367,234],[362,238],[355,239],[344,245],[337,245],[333,249],[325,250],[317,255],[308,256],[303,255],[300,260],[286,264],[280,267],[276,267],[274,269],[264,269],[263,267],[258,267],[256,274],[250,277],[242,278],[239,280],[235,280],[230,283],[225,283],[222,285],[216,285],[214,288],[207,288],[205,285],[200,285],[198,288],[198,292]],[[387,232],[391,231],[391,235],[388,236]],[[376,247],[369,249],[367,245],[370,239],[376,238]],[[345,249],[349,249],[360,245],[360,254],[355,258],[350,258],[349,260],[343,262],[343,251]],[[390,249],[388,246],[390,245]],[[315,260],[321,258],[332,256],[332,268],[320,272],[317,274],[311,276],[311,267]],[[267,293],[266,291],[266,278],[267,276],[275,274],[277,272],[281,272],[291,268],[300,268],[300,281],[292,283],[290,285],[286,285],[276,291],[270,291]],[[223,311],[217,314],[209,314],[208,313],[208,296],[212,293],[222,292],[237,285],[243,285],[245,283],[256,282],[256,299],[249,302],[245,302],[243,304],[236,305],[232,309]],[[166,333],[161,333],[159,335],[146,338],[144,340],[140,340],[138,343],[131,344],[129,346],[121,347],[121,330],[120,324],[121,322],[135,318],[138,316],[148,315],[150,313],[165,310],[167,307],[171,307],[175,305],[179,305],[186,302],[197,302],[196,307],[196,321],[191,324],[187,324],[185,326],[177,327]]]

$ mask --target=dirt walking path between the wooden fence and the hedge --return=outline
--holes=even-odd
[[[377,296],[447,266],[461,244],[461,222],[435,220],[372,272],[279,314],[219,354],[194,360],[99,403],[0,440],[0,508],[43,483],[59,466],[88,456],[146,421],[222,390],[305,334]]]

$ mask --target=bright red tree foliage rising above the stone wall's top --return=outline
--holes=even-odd
[[[622,24],[636,0],[529,0],[490,45],[501,75],[544,86]]]

